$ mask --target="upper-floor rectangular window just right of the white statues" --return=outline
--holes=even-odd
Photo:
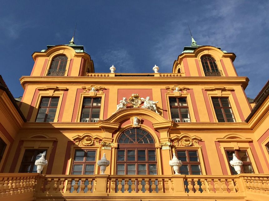
[[[187,98],[169,98],[172,120],[175,122],[190,122]]]

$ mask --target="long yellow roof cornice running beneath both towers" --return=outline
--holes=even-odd
[[[165,77],[157,77],[157,76],[149,76],[149,77],[139,77],[139,74],[133,74],[130,77],[86,77],[86,76],[59,76],[49,77],[49,76],[22,76],[20,78],[22,87],[25,87],[27,84],[35,84],[35,85],[46,85],[46,84],[61,84],[61,85],[74,85],[78,84],[98,84],[98,85],[115,85],[115,84],[180,84],[180,85],[197,85],[197,84],[214,84],[222,85],[224,84],[233,84],[240,85],[243,88],[246,88],[248,85],[249,79],[247,77],[176,77],[176,76],[165,76]],[[128,79],[126,79],[128,78]]]

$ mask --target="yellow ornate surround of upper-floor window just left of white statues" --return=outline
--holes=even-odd
[[[95,85],[92,85],[92,86],[95,86]],[[101,91],[102,89],[99,90],[99,93],[97,93],[97,91],[89,91],[91,89],[91,86],[90,87],[84,86],[84,87],[82,87],[82,89],[84,89],[84,92],[82,92],[80,94],[76,122],[80,122],[84,98],[101,98],[101,108],[100,108],[99,120],[103,120],[104,119],[104,109],[105,109],[105,93],[103,91]],[[89,123],[94,123],[94,122],[89,122]]]

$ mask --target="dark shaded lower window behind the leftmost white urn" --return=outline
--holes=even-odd
[[[47,150],[25,150],[19,172],[20,173],[37,173],[35,161],[40,159]],[[46,155],[45,155],[46,158]]]

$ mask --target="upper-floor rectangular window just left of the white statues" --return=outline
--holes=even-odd
[[[101,98],[84,98],[80,122],[98,122],[100,109]]]

